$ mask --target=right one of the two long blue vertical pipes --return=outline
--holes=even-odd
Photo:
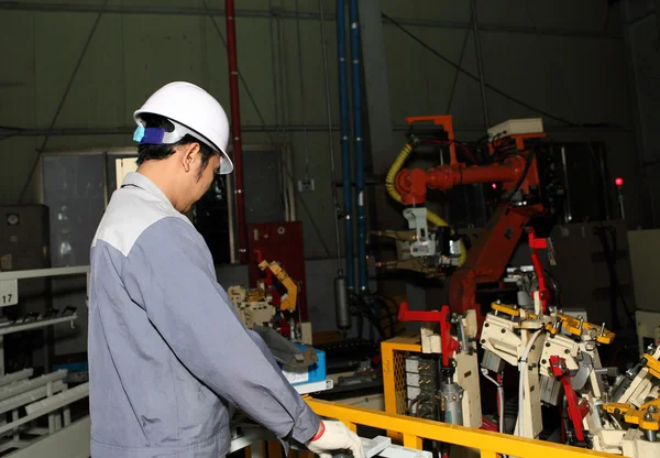
[[[364,194],[364,137],[362,132],[362,68],[360,64],[360,17],[358,0],[350,0],[351,88],[353,101],[353,141],[355,152],[355,197],[358,200],[358,286],[365,292],[366,275],[366,196]]]

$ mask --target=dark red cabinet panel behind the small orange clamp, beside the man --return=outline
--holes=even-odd
[[[263,276],[256,262],[255,250],[258,250],[264,260],[279,262],[286,273],[298,283],[300,319],[307,320],[307,279],[305,275],[302,223],[290,221],[248,225],[248,238],[250,240],[250,285],[255,287],[257,279]]]

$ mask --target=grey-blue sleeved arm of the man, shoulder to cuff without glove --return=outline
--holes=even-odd
[[[320,419],[239,320],[204,239],[187,221],[167,218],[143,232],[122,276],[196,378],[280,439],[305,444],[317,434]]]

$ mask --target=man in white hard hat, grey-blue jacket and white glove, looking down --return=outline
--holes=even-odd
[[[239,320],[183,215],[233,170],[220,103],[170,83],[133,117],[139,167],[113,193],[90,252],[92,457],[224,456],[235,406],[285,448],[364,458],[360,438],[320,421]]]

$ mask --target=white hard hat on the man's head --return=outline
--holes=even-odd
[[[160,115],[174,124],[173,132],[162,129],[145,129],[141,115]],[[186,134],[206,143],[222,154],[220,174],[233,171],[227,154],[229,143],[229,120],[222,106],[202,88],[190,83],[175,81],[156,90],[144,105],[133,113],[138,130],[133,139],[142,143],[172,144]]]

